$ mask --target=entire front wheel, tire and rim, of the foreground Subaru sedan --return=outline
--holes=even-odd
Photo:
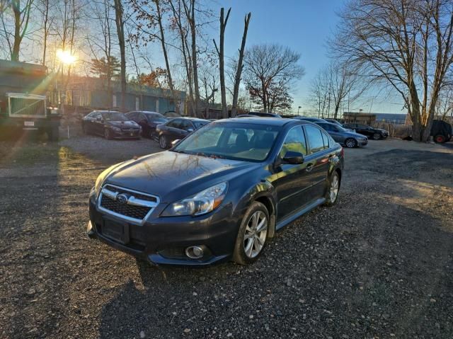
[[[262,222],[264,224],[261,225]],[[269,227],[268,209],[258,201],[253,202],[243,216],[236,237],[233,253],[235,263],[247,265],[254,263],[260,257],[268,240]]]

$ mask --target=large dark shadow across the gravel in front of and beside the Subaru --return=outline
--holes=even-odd
[[[384,190],[358,194],[367,214],[343,196],[280,231],[247,267],[139,262],[140,280],[103,304],[99,337],[451,338],[453,229]]]

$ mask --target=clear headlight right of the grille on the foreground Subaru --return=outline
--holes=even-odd
[[[168,205],[162,212],[163,217],[176,217],[180,215],[201,215],[211,212],[219,207],[225,197],[226,183],[219,183],[200,193],[187,197]]]

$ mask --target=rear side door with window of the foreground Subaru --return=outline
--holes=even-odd
[[[309,172],[311,182],[310,201],[323,197],[326,194],[327,175],[331,159],[328,135],[319,127],[313,125],[304,126],[308,153],[306,156],[306,171]]]

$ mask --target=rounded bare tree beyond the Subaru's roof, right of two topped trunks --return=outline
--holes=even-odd
[[[245,83],[251,99],[265,112],[287,109],[292,99],[289,88],[304,74],[300,54],[282,45],[254,45],[244,57]]]

